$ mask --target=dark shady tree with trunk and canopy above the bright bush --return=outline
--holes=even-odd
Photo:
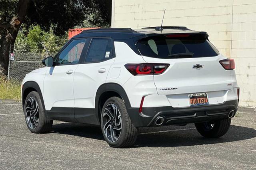
[[[111,0],[0,0],[0,74],[7,75],[9,47],[14,45],[22,23],[26,30],[34,24],[46,32],[53,25],[52,33],[57,36],[75,26],[109,26],[111,3]]]

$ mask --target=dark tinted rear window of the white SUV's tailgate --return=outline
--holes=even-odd
[[[154,58],[213,57],[219,51],[201,36],[152,36],[138,40],[136,46],[140,53]]]

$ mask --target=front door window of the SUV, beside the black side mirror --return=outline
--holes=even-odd
[[[79,62],[86,39],[72,40],[60,53],[57,64],[75,64]]]

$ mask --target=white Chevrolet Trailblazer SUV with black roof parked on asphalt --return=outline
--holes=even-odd
[[[234,60],[186,27],[86,30],[22,82],[31,132],[53,120],[100,125],[112,147],[134,144],[138,127],[195,123],[224,135],[238,109]]]

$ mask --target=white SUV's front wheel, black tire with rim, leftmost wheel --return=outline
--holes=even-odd
[[[24,102],[24,115],[26,125],[32,133],[45,133],[50,131],[53,120],[47,119],[42,100],[36,91],[30,92],[26,97]]]

